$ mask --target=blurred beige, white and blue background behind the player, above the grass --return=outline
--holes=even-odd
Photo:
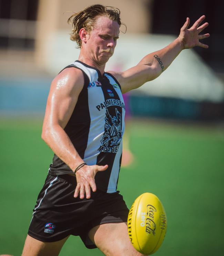
[[[94,0],[0,0],[0,112],[43,112],[52,78],[79,56],[70,41],[73,12]],[[122,33],[106,70],[125,70],[144,55],[165,47],[179,34],[186,17],[191,25],[205,14],[211,36],[185,50],[158,79],[130,94],[133,115],[191,120],[223,120],[223,1],[183,2],[109,0],[120,8]],[[25,91],[24,91],[25,90]],[[31,99],[32,98],[32,99]]]

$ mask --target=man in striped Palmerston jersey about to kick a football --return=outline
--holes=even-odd
[[[141,255],[130,243],[128,208],[116,191],[125,106],[122,93],[159,76],[183,50],[200,46],[205,16],[160,51],[124,72],[104,72],[113,55],[120,11],[100,4],[70,17],[79,60],[53,80],[42,138],[55,153],[34,208],[23,255],[58,255],[70,235],[105,255]],[[96,190],[97,189],[97,190]],[[75,251],[75,248],[74,248]]]

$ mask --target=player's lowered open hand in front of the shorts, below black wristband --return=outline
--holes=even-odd
[[[85,196],[87,199],[90,198],[91,189],[93,192],[96,191],[96,184],[94,177],[97,172],[105,171],[108,168],[108,165],[84,165],[76,173],[77,186],[75,188],[74,197],[83,199]]]

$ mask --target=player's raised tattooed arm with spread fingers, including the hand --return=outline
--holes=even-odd
[[[200,26],[204,19],[205,16],[203,15],[188,29],[190,19],[187,18],[181,28],[179,37],[171,44],[159,51],[146,55],[136,66],[124,72],[109,71],[120,82],[122,93],[139,88],[145,82],[154,80],[170,66],[183,49],[189,49],[195,46],[208,48],[208,45],[200,43],[199,40],[207,38],[210,35],[198,35],[208,26],[207,22]]]

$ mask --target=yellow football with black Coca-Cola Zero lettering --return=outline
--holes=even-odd
[[[156,195],[143,193],[128,214],[128,234],[134,248],[146,255],[155,253],[166,234],[166,213]]]

